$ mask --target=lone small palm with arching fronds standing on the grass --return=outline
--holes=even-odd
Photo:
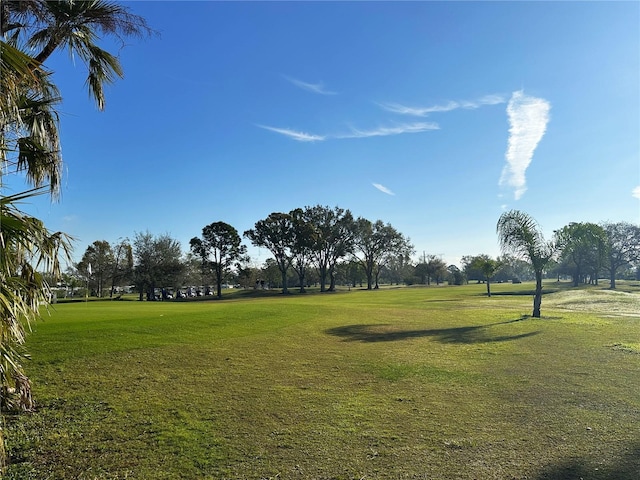
[[[539,225],[532,217],[518,210],[500,215],[496,231],[503,253],[512,253],[531,263],[536,276],[532,316],[540,318],[542,272],[555,255],[555,244],[544,239]]]

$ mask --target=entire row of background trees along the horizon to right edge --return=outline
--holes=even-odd
[[[533,222],[526,214],[515,213]],[[507,224],[500,225],[508,233]],[[523,237],[534,243],[528,250],[506,248],[496,258],[466,255],[457,266],[426,252],[413,258],[410,239],[389,223],[355,218],[340,207],[316,205],[271,213],[242,236],[232,225],[213,222],[190,240],[187,252],[168,234],[136,233],[133,241],[125,239],[114,245],[98,240],[87,247],[63,280],[67,287],[86,285],[99,297],[112,297],[117,287],[131,284],[140,300],[154,300],[159,289],[171,289],[175,295],[181,287],[191,285],[210,286],[207,291],[220,297],[225,284],[267,285],[283,293],[296,287],[304,293],[311,285],[324,292],[334,291],[337,284],[372,290],[380,283],[461,285],[470,281],[486,283],[490,296],[492,282],[549,277],[570,278],[578,286],[597,284],[606,276],[610,287],[616,288],[616,279],[640,274],[637,225],[570,223],[554,232],[549,242],[538,245],[535,241],[541,234],[534,225]],[[269,252],[261,265],[247,254],[243,237]],[[538,265],[541,260],[542,267]]]

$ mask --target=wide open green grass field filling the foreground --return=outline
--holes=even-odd
[[[531,288],[58,304],[6,478],[640,478],[640,293]]]

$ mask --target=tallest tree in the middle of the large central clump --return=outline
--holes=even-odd
[[[339,259],[353,248],[353,215],[340,207],[306,207],[305,215],[313,225],[313,256],[320,275],[320,291],[335,290],[334,270]]]

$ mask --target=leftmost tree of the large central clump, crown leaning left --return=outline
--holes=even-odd
[[[264,220],[258,220],[255,226],[244,232],[256,247],[269,250],[282,275],[282,293],[288,293],[287,272],[293,260],[295,226],[288,213],[271,213]]]

